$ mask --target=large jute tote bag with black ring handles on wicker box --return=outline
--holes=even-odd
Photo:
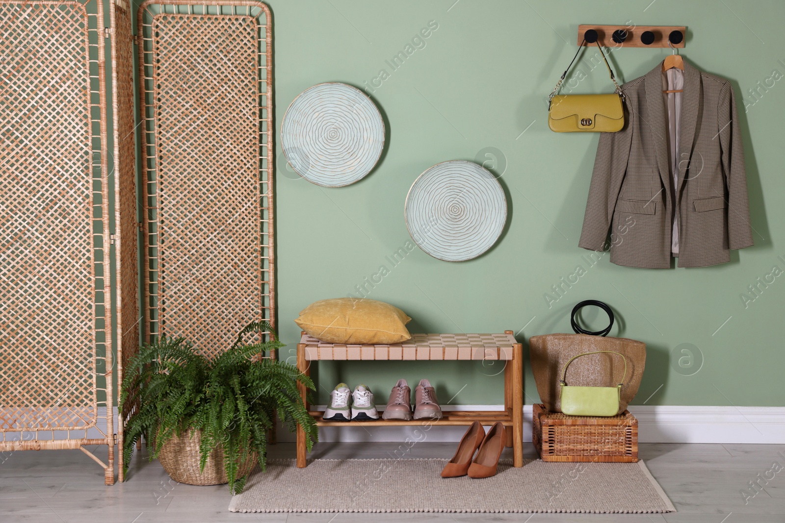
[[[582,329],[575,314],[586,305],[601,307],[610,322],[608,327],[597,332]],[[619,413],[624,412],[641,386],[646,365],[646,344],[628,338],[608,338],[613,326],[613,311],[607,304],[597,300],[586,300],[572,309],[571,324],[575,334],[544,334],[529,338],[531,370],[535,375],[540,400],[550,412],[561,412],[559,381],[564,365],[578,354],[597,350],[611,350],[624,354],[627,359],[627,375],[623,382]],[[579,363],[579,365],[578,365]],[[567,369],[567,383],[581,387],[615,387],[624,375],[624,362],[615,354],[590,354],[576,360]]]

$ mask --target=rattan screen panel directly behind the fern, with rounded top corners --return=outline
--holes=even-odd
[[[272,53],[261,2],[144,2],[147,336],[206,354],[274,325]]]

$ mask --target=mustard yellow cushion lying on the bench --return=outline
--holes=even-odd
[[[334,298],[311,303],[294,320],[301,329],[327,343],[400,343],[411,338],[411,321],[398,307],[376,300]]]

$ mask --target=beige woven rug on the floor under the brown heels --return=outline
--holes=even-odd
[[[638,463],[499,462],[492,478],[440,478],[447,459],[271,459],[232,512],[674,512]]]

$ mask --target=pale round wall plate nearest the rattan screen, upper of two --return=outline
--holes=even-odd
[[[371,172],[385,145],[382,114],[360,89],[324,83],[292,101],[281,147],[292,169],[323,187],[343,187]]]

